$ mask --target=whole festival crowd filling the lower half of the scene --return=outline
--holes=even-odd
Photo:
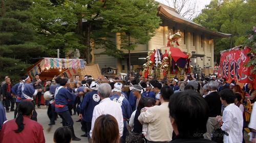
[[[54,142],[80,140],[75,135],[72,116],[78,116],[81,130],[89,142],[214,142],[217,129],[223,142],[244,142],[244,128],[256,142],[256,91],[253,84],[243,88],[235,81],[214,75],[199,80],[193,74],[184,79],[162,81],[140,79],[100,83],[86,75],[41,81],[29,76],[12,84],[2,82],[0,103],[0,142],[45,142],[42,126],[37,123],[41,95],[48,107],[49,126],[61,118],[62,126],[54,133]],[[16,107],[15,104],[16,103]],[[10,109],[9,109],[10,107]],[[15,109],[14,109],[15,107]],[[72,111],[73,110],[73,111]],[[7,121],[5,112],[14,111]],[[245,118],[251,111],[250,123]],[[5,122],[5,123],[4,123]]]

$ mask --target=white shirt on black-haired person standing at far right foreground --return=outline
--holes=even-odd
[[[243,113],[234,103],[229,104],[223,111],[223,124],[221,129],[229,135],[224,135],[224,143],[243,141]]]

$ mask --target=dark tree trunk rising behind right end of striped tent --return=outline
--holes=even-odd
[[[85,49],[85,54],[86,54],[86,62],[87,64],[91,64],[92,63],[92,56],[91,56],[91,23],[90,21],[88,21],[86,23],[86,33],[85,33],[85,43],[84,45],[86,46],[86,49]]]

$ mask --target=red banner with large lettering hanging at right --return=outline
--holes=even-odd
[[[229,80],[236,80],[241,83],[253,83],[256,76],[251,73],[253,66],[246,67],[250,58],[247,53],[250,52],[249,47],[244,49],[233,48],[221,52],[220,68],[218,74]]]

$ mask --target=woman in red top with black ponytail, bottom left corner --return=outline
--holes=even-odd
[[[19,103],[16,119],[7,121],[0,132],[2,143],[45,143],[42,126],[31,120],[34,105],[30,101]]]

